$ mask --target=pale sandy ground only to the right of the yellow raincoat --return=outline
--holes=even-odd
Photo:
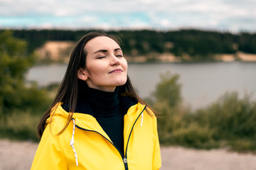
[[[224,149],[196,150],[162,147],[163,170],[255,170],[255,154],[238,154]]]

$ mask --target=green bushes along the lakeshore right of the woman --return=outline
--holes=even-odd
[[[256,102],[238,92],[226,93],[206,108],[182,106],[178,76],[166,73],[149,100],[159,111],[159,140],[163,145],[202,149],[226,147],[256,152]]]

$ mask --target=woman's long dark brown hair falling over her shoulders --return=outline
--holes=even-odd
[[[73,117],[73,113],[75,112],[75,107],[77,104],[77,98],[78,98],[78,70],[80,68],[85,69],[86,65],[86,57],[87,52],[85,50],[85,45],[89,40],[92,40],[93,38],[99,37],[99,36],[105,36],[112,38],[114,41],[116,41],[118,44],[117,38],[115,38],[112,35],[107,35],[103,32],[91,32],[87,33],[84,37],[81,38],[81,40],[78,42],[77,45],[75,45],[75,48],[70,56],[70,61],[68,63],[68,68],[65,72],[65,76],[63,78],[63,81],[60,84],[60,87],[58,89],[58,92],[56,94],[56,97],[51,104],[50,108],[46,111],[46,113],[43,115],[43,118],[41,118],[40,123],[38,124],[38,137],[41,138],[43,135],[43,130],[45,130],[46,126],[46,120],[50,117],[50,113],[52,112],[53,107],[59,103],[67,103],[69,107],[69,113],[68,113],[68,119],[65,123],[65,127],[63,130],[61,130],[58,134],[61,134],[64,132],[64,130],[68,127],[68,124],[70,123],[70,120]],[[127,82],[119,86],[119,93],[122,94],[128,94],[129,96],[132,96],[137,99],[142,104],[146,104],[137,93],[134,91],[134,87],[132,86],[132,82],[130,81],[129,77],[127,76]],[[147,113],[151,115],[151,112],[149,109],[146,109]]]

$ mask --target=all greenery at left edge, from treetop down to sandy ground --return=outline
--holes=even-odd
[[[36,58],[11,30],[0,32],[0,137],[36,140],[39,115],[50,104],[48,92],[25,75]]]

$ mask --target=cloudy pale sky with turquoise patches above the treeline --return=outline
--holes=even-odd
[[[0,0],[0,29],[256,32],[256,0]]]

